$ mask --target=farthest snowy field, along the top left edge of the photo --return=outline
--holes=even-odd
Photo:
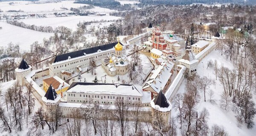
[[[49,3],[44,3],[49,2]],[[13,4],[9,4],[13,3]],[[33,12],[33,13],[40,13],[40,12],[56,12],[56,11],[66,11],[63,8],[79,8],[81,6],[88,6],[87,4],[79,4],[74,3],[74,1],[47,1],[41,0],[37,2],[31,1],[5,1],[0,3],[0,9],[2,11],[8,10],[22,10],[24,12]],[[92,9],[88,9],[88,11],[95,11],[95,12],[113,12],[114,10],[108,8],[100,8],[95,7]]]

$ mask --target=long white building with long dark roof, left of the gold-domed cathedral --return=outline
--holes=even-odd
[[[89,66],[90,60],[94,60],[96,65],[99,65],[103,58],[115,54],[114,46],[117,43],[118,42],[113,42],[106,45],[57,55],[49,61],[49,76],[58,76],[64,79],[64,76],[61,75],[63,72],[61,71],[69,71],[71,73],[73,71],[81,71],[82,68],[87,68]],[[122,43],[120,44],[122,45]],[[125,48],[122,48],[122,53],[125,54]]]

